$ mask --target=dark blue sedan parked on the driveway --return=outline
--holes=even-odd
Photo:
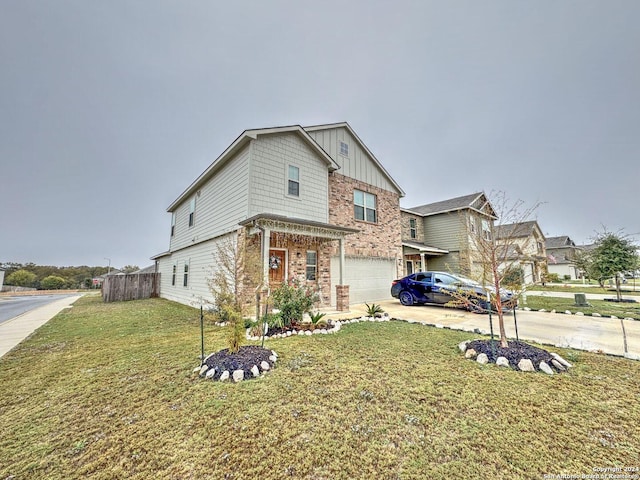
[[[489,288],[493,292],[493,289]],[[446,272],[416,272],[391,284],[391,295],[403,305],[457,303],[477,312],[488,311],[487,289],[478,282]],[[502,291],[503,305],[512,306],[513,294]]]

